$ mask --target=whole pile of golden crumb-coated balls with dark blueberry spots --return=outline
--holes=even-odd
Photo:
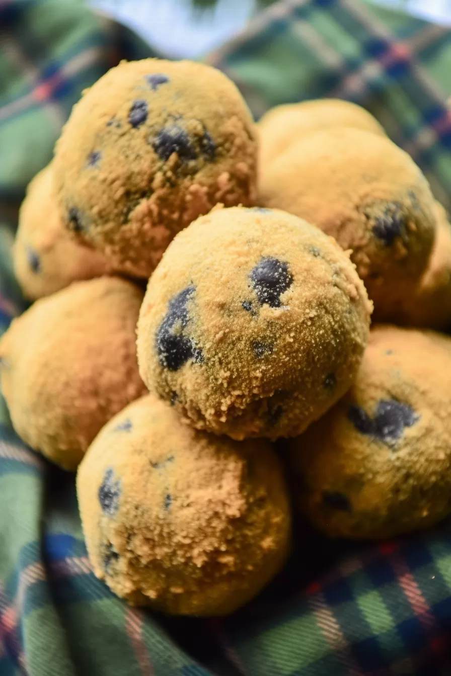
[[[283,567],[292,508],[357,538],[451,510],[451,339],[429,330],[450,225],[362,108],[255,125],[208,66],[121,63],[28,187],[14,266],[37,301],[0,341],[11,421],[78,469],[93,570],[131,604],[233,612]],[[370,331],[373,307],[416,328]]]

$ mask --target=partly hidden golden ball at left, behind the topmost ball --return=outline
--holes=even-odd
[[[71,282],[112,272],[112,264],[100,251],[76,243],[64,228],[53,193],[51,164],[28,185],[13,261],[22,291],[32,300],[60,291]]]

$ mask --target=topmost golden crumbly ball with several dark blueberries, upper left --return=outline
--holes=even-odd
[[[74,106],[55,176],[65,225],[125,272],[149,276],[199,214],[255,203],[254,122],[210,66],[122,62]]]

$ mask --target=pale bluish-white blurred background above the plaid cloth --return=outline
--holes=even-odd
[[[272,4],[272,0],[88,1],[172,58],[200,57],[245,28],[259,8]],[[451,26],[451,0],[377,0],[377,4]]]

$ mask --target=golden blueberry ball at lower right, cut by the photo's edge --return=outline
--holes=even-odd
[[[451,339],[371,331],[356,382],[290,442],[298,504],[332,537],[393,537],[451,510]]]

